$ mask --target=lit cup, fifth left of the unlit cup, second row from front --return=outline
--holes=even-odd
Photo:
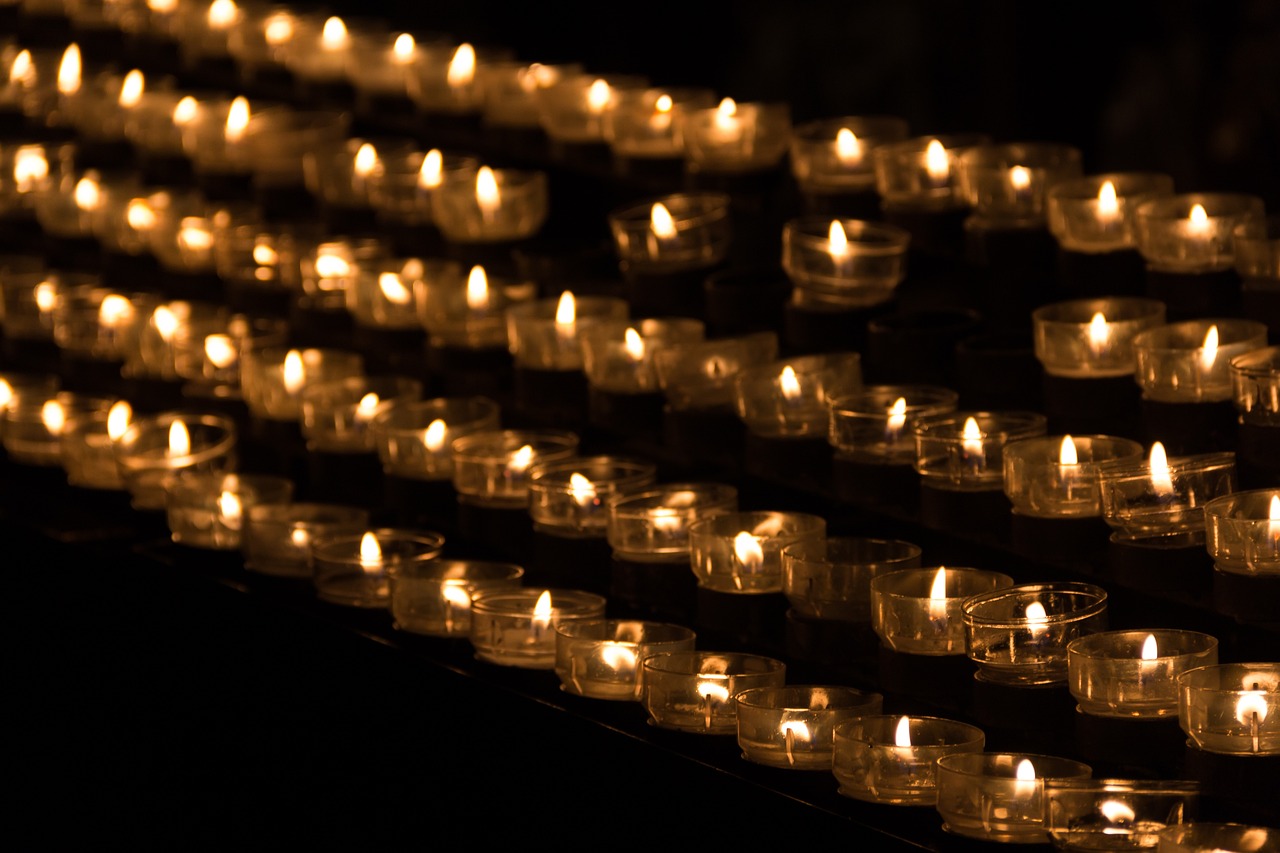
[[[439,397],[392,405],[374,416],[370,432],[385,473],[448,480],[454,439],[495,430],[498,423],[498,403],[486,397]]]

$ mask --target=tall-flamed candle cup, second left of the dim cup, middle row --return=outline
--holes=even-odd
[[[625,320],[627,304],[608,296],[535,300],[507,309],[507,338],[517,368],[581,370],[579,332],[600,320]]]

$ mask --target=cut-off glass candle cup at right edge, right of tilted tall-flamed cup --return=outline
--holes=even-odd
[[[1204,544],[1220,571],[1280,575],[1280,489],[1253,489],[1204,505]]]

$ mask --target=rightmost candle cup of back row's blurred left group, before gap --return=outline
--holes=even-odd
[[[778,164],[791,145],[787,104],[737,104],[726,97],[680,118],[685,161],[696,172],[755,172]]]

